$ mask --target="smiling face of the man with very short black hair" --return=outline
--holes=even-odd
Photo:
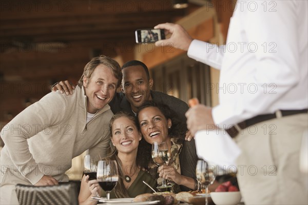
[[[146,100],[151,100],[150,89],[153,80],[148,79],[142,66],[129,66],[122,70],[122,91],[134,112]]]

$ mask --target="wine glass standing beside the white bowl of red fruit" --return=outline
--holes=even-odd
[[[208,205],[208,186],[215,180],[214,166],[208,166],[206,161],[198,160],[196,176],[200,183],[205,187],[205,205]]]

